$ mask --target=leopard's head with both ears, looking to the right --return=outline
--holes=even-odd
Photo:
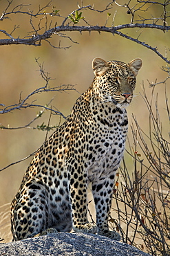
[[[139,58],[129,64],[95,58],[92,62],[95,75],[93,86],[100,102],[112,102],[121,109],[127,107],[133,98],[136,75],[141,66]]]

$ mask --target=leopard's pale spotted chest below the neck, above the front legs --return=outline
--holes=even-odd
[[[91,150],[85,163],[89,181],[116,172],[123,158],[127,137],[127,117],[113,120],[114,122],[105,124],[101,121],[103,124],[98,126],[100,129],[91,140],[89,147]]]

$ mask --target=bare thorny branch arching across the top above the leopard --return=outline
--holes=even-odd
[[[30,25],[33,29],[31,33],[28,33],[28,35],[25,35],[25,37],[20,38],[14,37],[12,34],[15,32],[18,26],[15,26],[12,30],[12,33],[8,33],[6,30],[0,30],[1,33],[6,35],[6,37],[10,38],[4,38],[0,39],[0,46],[2,45],[12,45],[12,44],[25,44],[25,45],[32,45],[32,46],[41,46],[43,41],[46,41],[50,44],[50,46],[54,48],[70,48],[70,46],[67,47],[61,47],[61,42],[59,41],[59,46],[54,46],[52,42],[50,42],[50,39],[52,39],[52,36],[56,35],[59,37],[65,37],[71,40],[71,42],[74,42],[71,37],[63,34],[65,32],[73,32],[78,31],[80,33],[84,31],[88,31],[91,33],[92,31],[97,31],[98,33],[111,33],[112,35],[119,35],[121,37],[125,37],[126,39],[129,39],[133,42],[136,42],[137,44],[140,44],[146,48],[149,48],[151,51],[156,53],[159,57],[162,58],[165,62],[170,64],[170,60],[168,60],[167,57],[164,57],[162,53],[160,53],[156,46],[151,46],[147,44],[146,42],[142,42],[138,40],[138,37],[127,35],[126,33],[120,32],[120,30],[125,30],[127,28],[135,29],[135,28],[145,28],[147,29],[155,29],[155,30],[162,30],[162,32],[168,32],[170,30],[170,26],[168,26],[170,21],[170,15],[169,15],[169,6],[170,6],[170,0],[164,1],[164,3],[159,3],[158,1],[138,1],[134,3],[134,1],[128,0],[127,3],[124,5],[118,3],[117,1],[108,3],[103,10],[98,10],[95,8],[95,6],[87,5],[82,6],[78,5],[78,8],[67,15],[67,17],[63,17],[61,15],[61,10],[56,10],[56,8],[52,7],[52,1],[50,3],[47,3],[46,6],[43,6],[41,8],[39,6],[39,10],[37,12],[33,12],[32,10],[28,9],[30,8],[30,5],[24,5],[19,4],[18,6],[15,6],[12,8],[13,0],[8,0],[8,5],[6,7],[6,10],[3,11],[0,17],[0,21],[4,21],[5,19],[12,19],[12,15],[25,15],[30,16]],[[107,24],[107,21],[109,17],[111,17],[111,10],[116,8],[116,6],[120,8],[123,8],[123,10],[127,10],[127,15],[129,15],[129,23],[127,24],[120,24],[118,26],[114,26],[115,17],[113,19],[113,22],[111,26],[105,26]],[[158,6],[160,10],[162,10],[162,14],[160,17],[153,17],[152,8]],[[47,10],[49,9],[49,12]],[[108,12],[109,10],[109,12]],[[84,12],[96,12],[96,15],[103,15],[104,12],[107,12],[107,19],[106,22],[103,24],[103,26],[96,26],[96,25],[90,25],[89,21],[85,19],[85,17],[82,17],[82,13]],[[114,11],[115,12],[115,11]],[[121,10],[119,10],[119,15],[121,15]],[[145,18],[142,17],[141,12],[145,12]],[[123,11],[123,13],[125,13]],[[123,15],[123,14],[122,14]],[[92,15],[93,16],[93,15]],[[34,19],[40,17],[39,24],[34,25]],[[56,26],[56,23],[60,22],[61,25]],[[127,19],[128,20],[128,19]],[[76,24],[84,22],[86,26],[76,26]],[[52,23],[54,23],[54,26],[52,27]],[[42,24],[42,25],[41,25]],[[88,25],[88,26],[87,26]],[[42,30],[44,32],[42,33]]]

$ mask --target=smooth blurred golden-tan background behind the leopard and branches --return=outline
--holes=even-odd
[[[63,18],[67,17],[73,10],[77,8],[77,0],[72,1],[52,1],[52,6],[56,10],[60,10],[61,17],[51,18],[53,26],[57,22],[57,26],[61,25]],[[133,1],[131,1],[133,3]],[[136,2],[136,1],[134,1]],[[25,1],[24,1],[25,3]],[[24,8],[30,8],[34,12],[39,10],[39,5],[41,7],[47,4],[46,0],[33,1],[29,0],[26,3],[30,6]],[[88,0],[83,1],[84,6],[88,4],[94,4],[94,8],[98,10],[105,9],[105,6],[109,1],[103,0]],[[121,4],[125,1],[121,1]],[[12,10],[14,6],[21,4],[21,1],[15,0],[10,6],[9,10]],[[79,3],[81,5],[81,1]],[[0,13],[3,13],[8,6],[8,1],[4,0],[0,3]],[[52,9],[52,8],[51,8]],[[47,8],[45,12],[50,11]],[[107,26],[111,26],[113,17],[114,26],[119,24],[129,24],[130,17],[126,12],[125,8],[121,8],[113,3],[112,9],[108,10],[111,15],[107,21]],[[83,17],[89,22],[89,24],[96,26],[103,26],[107,19],[107,12],[94,12],[89,10],[83,10]],[[147,12],[148,17],[151,15],[155,17],[160,17],[162,9],[152,6]],[[146,13],[142,13],[146,15]],[[38,19],[33,19],[32,22],[34,26],[37,26]],[[50,22],[50,20],[49,20]],[[18,26],[17,30],[14,31],[13,37],[25,37],[28,32],[32,30],[30,26],[30,17],[23,14],[11,15],[10,19],[4,19],[1,21],[1,29],[6,30],[10,33],[14,25]],[[85,26],[85,22],[81,21],[80,26]],[[42,21],[42,26],[45,26],[45,21]],[[42,33],[45,28],[42,29]],[[40,32],[41,33],[41,32]],[[163,55],[166,51],[169,57],[169,40],[170,34],[163,33],[160,30],[151,29],[141,29],[134,28],[133,30],[127,29],[123,31],[127,35],[132,37],[138,37],[140,33],[140,40],[145,41],[151,46],[158,47]],[[73,84],[76,91],[69,91],[67,93],[41,93],[36,95],[36,98],[31,100],[36,100],[37,104],[45,105],[52,98],[52,107],[59,109],[64,116],[68,116],[72,109],[76,98],[80,96],[79,93],[83,93],[88,89],[89,85],[92,83],[94,74],[92,71],[92,60],[94,57],[101,57],[104,60],[120,60],[123,62],[130,62],[136,57],[142,59],[143,65],[138,73],[135,98],[131,103],[131,106],[127,109],[129,122],[131,125],[131,115],[134,113],[138,123],[142,129],[147,132],[149,125],[149,113],[145,105],[145,101],[142,99],[142,84],[145,86],[148,98],[151,95],[152,89],[149,88],[149,82],[161,82],[167,77],[167,73],[161,70],[162,66],[166,66],[165,62],[158,57],[153,51],[131,42],[118,35],[112,35],[109,33],[82,33],[78,32],[66,33],[67,36],[71,37],[74,44],[70,39],[59,37],[53,35],[50,42],[55,46],[59,46],[59,41],[61,41],[61,47],[71,46],[67,49],[53,48],[47,42],[42,42],[41,46],[23,46],[23,45],[12,45],[12,46],[1,46],[0,47],[0,103],[5,106],[16,104],[19,102],[19,98],[25,98],[27,95],[32,93],[35,89],[40,86],[45,85],[45,81],[42,79],[39,73],[39,66],[37,65],[35,59],[39,58],[39,62],[43,64],[45,71],[50,73],[50,77],[53,80],[50,81],[50,86],[60,86],[61,84]],[[0,34],[0,39],[7,38],[3,33]],[[167,50],[166,47],[167,46]],[[149,82],[148,82],[149,80]],[[167,82],[167,95],[169,95],[169,81]],[[155,95],[158,93],[158,107],[160,111],[160,117],[163,124],[164,134],[168,136],[169,124],[167,123],[167,112],[165,104],[165,84],[158,84],[154,91]],[[30,102],[31,102],[30,100]],[[43,109],[43,108],[42,108]],[[22,109],[14,110],[10,113],[3,113],[0,116],[0,124],[5,127],[21,127],[27,125],[31,120],[36,117],[36,114],[42,110],[41,108],[32,109]],[[50,117],[50,112],[45,111],[42,118],[39,118],[34,122],[31,127],[36,127],[36,125],[41,125],[43,122],[47,125],[48,119]],[[59,125],[59,122],[63,122],[58,116],[52,116],[50,120],[50,125]],[[49,135],[52,134],[50,131]],[[167,134],[167,135],[166,135]],[[0,169],[14,163],[16,161],[25,158],[30,155],[36,149],[38,149],[45,140],[46,131],[39,131],[37,129],[25,128],[25,129],[0,129]],[[165,137],[166,138],[166,137]],[[167,137],[168,138],[168,137]],[[129,140],[131,140],[131,131],[129,129]],[[127,156],[129,158],[129,156]],[[19,185],[23,178],[23,174],[27,169],[31,158],[12,165],[8,169],[0,172],[0,214],[3,217],[4,207],[5,211],[8,212],[9,205],[14,198],[14,195],[19,190]],[[129,158],[129,172],[131,159]],[[2,206],[1,206],[2,205]],[[5,205],[5,206],[4,206]],[[5,216],[5,215],[4,215]],[[10,230],[10,222],[8,218],[3,219],[0,222],[0,237],[4,237],[1,231],[5,226],[8,226]],[[7,229],[6,229],[7,230]],[[2,235],[1,235],[2,234]],[[7,237],[6,241],[9,241],[10,237]]]

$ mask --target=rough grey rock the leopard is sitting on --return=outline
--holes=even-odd
[[[147,256],[148,254],[100,235],[60,232],[1,244],[0,255]]]

